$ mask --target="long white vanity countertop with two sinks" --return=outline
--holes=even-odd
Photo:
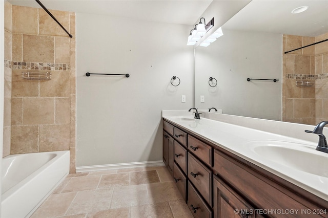
[[[317,143],[212,119],[200,118],[198,120],[190,116],[190,113],[189,115],[163,113],[162,118],[328,201],[328,154],[315,150]],[[264,144],[267,142],[268,146],[270,143],[277,142],[277,144],[287,146],[287,149],[290,144],[299,146],[297,150],[305,155],[305,158],[299,157],[302,158],[298,160],[299,163],[305,163],[306,167],[307,162],[319,160],[320,163],[317,165],[321,169],[323,167],[323,174],[317,173],[319,176],[306,172],[299,169],[297,164],[286,166],[282,158],[288,159],[288,152],[284,152],[284,157],[274,160],[269,157],[270,152],[267,156],[259,155],[254,151],[254,144],[263,142]],[[309,159],[306,158],[307,155]],[[291,156],[293,160],[298,158],[293,153]],[[314,158],[316,160],[312,160]]]

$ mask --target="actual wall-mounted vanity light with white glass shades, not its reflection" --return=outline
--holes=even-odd
[[[204,20],[204,23],[202,23],[201,20]],[[212,27],[214,27],[214,17],[210,20],[208,24],[206,24],[205,18],[201,17],[199,19],[199,23],[195,25],[194,29],[190,31],[190,34],[188,36],[187,46],[193,46],[196,44],[196,42],[205,35]]]

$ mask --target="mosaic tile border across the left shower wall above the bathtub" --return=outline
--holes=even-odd
[[[68,63],[40,63],[40,62],[17,62],[5,60],[5,67],[22,70],[50,70],[50,71],[69,71]]]

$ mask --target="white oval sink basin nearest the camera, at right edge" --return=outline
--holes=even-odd
[[[328,178],[328,154],[314,146],[271,140],[250,141],[245,146],[263,159]]]

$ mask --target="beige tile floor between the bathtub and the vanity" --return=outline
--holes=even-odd
[[[193,217],[164,166],[70,174],[36,217]]]

